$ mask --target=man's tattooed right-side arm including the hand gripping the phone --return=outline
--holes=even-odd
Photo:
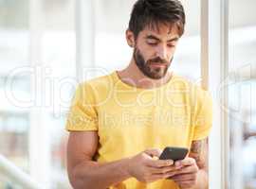
[[[208,188],[208,139],[193,141],[189,158],[175,163],[180,170],[172,177],[182,189]]]

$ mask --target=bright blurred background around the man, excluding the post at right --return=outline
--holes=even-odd
[[[64,124],[82,79],[78,71],[97,68],[88,76],[96,77],[128,65],[132,49],[124,32],[134,3],[94,0],[87,9],[82,6],[91,12],[83,20],[79,0],[0,0],[0,189],[26,188],[7,177],[4,161],[44,183],[44,188],[71,188]],[[199,83],[200,0],[182,3],[187,26],[171,69]],[[256,188],[255,7],[255,0],[229,1],[227,137],[232,189]],[[84,49],[80,39],[88,39]],[[88,59],[82,60],[82,54]]]

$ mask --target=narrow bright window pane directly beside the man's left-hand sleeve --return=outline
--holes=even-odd
[[[46,73],[44,123],[50,136],[50,188],[70,188],[65,160],[65,113],[76,87],[75,0],[42,0],[42,71]]]

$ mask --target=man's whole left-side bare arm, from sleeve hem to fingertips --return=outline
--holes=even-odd
[[[67,171],[75,189],[105,189],[122,180],[134,177],[151,182],[174,176],[173,161],[154,160],[161,150],[148,149],[131,158],[111,163],[93,161],[98,149],[97,131],[71,132],[67,144]]]

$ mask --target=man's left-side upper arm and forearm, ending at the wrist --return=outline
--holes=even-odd
[[[107,188],[129,177],[127,160],[113,163],[92,161],[98,148],[97,131],[71,132],[67,144],[67,171],[72,186],[79,188]],[[101,181],[100,181],[101,180]]]

